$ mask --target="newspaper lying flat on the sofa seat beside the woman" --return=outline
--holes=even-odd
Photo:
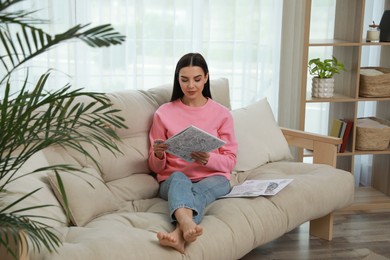
[[[293,179],[247,180],[236,185],[220,198],[273,196],[286,187]]]

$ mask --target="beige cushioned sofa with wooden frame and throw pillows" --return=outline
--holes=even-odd
[[[211,81],[215,100],[230,108],[226,79]],[[34,214],[59,220],[52,225],[62,240],[58,252],[23,252],[26,259],[239,259],[310,221],[312,235],[332,238],[332,212],[353,201],[353,176],[335,169],[339,139],[280,129],[266,99],[232,111],[239,143],[232,185],[247,179],[293,178],[274,197],[229,198],[212,203],[205,213],[204,234],[188,245],[186,254],[159,245],[156,233],[172,230],[166,201],[156,197],[158,184],[147,165],[148,130],[154,111],[170,98],[171,86],[148,91],[110,93],[113,106],[122,110],[128,129],[119,129],[123,155],[104,149],[91,152],[103,175],[84,156],[53,147],[36,154],[23,171],[54,163],[81,165],[83,179],[62,173],[71,208],[71,224],[56,197],[51,173],[19,179],[9,190],[20,196],[42,189],[26,203],[52,204]],[[289,142],[313,150],[316,164],[291,161]],[[90,185],[92,184],[92,185]],[[11,196],[11,195],[10,195]],[[11,197],[12,197],[11,196]],[[301,238],[308,239],[308,238]]]

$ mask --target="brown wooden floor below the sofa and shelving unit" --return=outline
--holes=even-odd
[[[305,223],[241,260],[255,259],[390,259],[390,210],[336,213],[332,241],[310,237]]]

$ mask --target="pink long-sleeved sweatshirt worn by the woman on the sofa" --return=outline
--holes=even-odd
[[[226,144],[210,152],[206,165],[189,163],[169,153],[165,153],[164,158],[160,160],[154,156],[151,146],[149,167],[157,174],[157,180],[164,181],[175,171],[183,172],[192,181],[199,181],[212,175],[223,175],[230,180],[230,172],[236,164],[237,154],[233,118],[227,108],[212,99],[208,99],[201,107],[187,106],[180,99],[162,105],[153,117],[149,134],[150,143],[153,144],[155,139],[166,140],[190,125],[217,136]]]

